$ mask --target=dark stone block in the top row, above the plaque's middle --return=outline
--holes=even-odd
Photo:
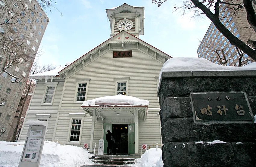
[[[204,91],[231,91],[229,79],[227,78],[204,78]]]

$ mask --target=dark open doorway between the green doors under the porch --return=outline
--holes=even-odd
[[[113,125],[114,149],[117,154],[128,154],[128,129],[128,125]]]

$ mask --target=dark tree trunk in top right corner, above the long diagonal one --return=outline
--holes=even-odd
[[[251,4],[251,0],[243,0],[243,3],[247,13],[248,23],[251,25],[251,27],[254,29],[256,33],[256,14]]]

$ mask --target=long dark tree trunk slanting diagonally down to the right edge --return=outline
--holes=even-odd
[[[190,0],[196,8],[201,9],[204,14],[214,23],[216,28],[225,36],[232,45],[235,45],[242,51],[244,51],[249,57],[256,61],[256,51],[236,38],[226,27],[220,22],[219,14],[213,14],[205,5],[198,0]]]

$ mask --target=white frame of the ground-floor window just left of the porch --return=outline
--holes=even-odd
[[[83,132],[83,120],[86,113],[80,112],[80,113],[69,113],[70,119],[69,119],[69,127],[68,127],[68,135],[67,135],[67,142],[66,144],[72,144],[72,145],[80,145],[81,144],[81,138],[82,138],[82,132]],[[80,136],[79,141],[69,141],[70,135],[71,135],[71,126],[73,119],[81,119],[81,127],[80,127]]]

